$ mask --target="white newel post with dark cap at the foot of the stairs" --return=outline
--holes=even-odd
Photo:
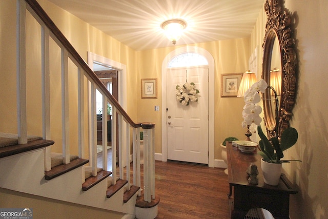
[[[155,135],[153,123],[142,123],[144,131],[144,200],[155,199]]]

